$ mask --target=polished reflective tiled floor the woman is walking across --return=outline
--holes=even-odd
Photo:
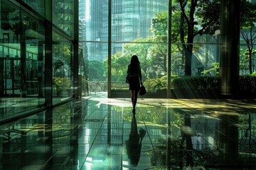
[[[255,103],[82,98],[1,125],[0,169],[256,169]]]

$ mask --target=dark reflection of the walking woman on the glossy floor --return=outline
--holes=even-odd
[[[125,142],[127,147],[128,158],[132,166],[137,166],[139,163],[140,152],[142,149],[142,140],[146,135],[146,130],[140,129],[137,131],[137,121],[135,115],[132,116],[131,133],[129,140]]]

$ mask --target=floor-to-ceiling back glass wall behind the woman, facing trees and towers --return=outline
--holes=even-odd
[[[83,38],[80,43],[86,44],[89,63],[105,62],[106,64],[102,64],[101,68],[106,70],[105,73],[108,68],[111,70],[111,80],[109,80],[111,91],[108,91],[111,93],[110,96],[115,97],[119,94],[129,96],[128,85],[124,81],[129,57],[132,55],[138,55],[141,61],[148,97],[166,97],[160,94],[161,91],[166,94],[167,75],[171,75],[173,97],[184,97],[176,96],[178,92],[175,87],[181,84],[183,84],[180,86],[183,90],[193,89],[217,93],[215,90],[220,88],[219,0],[181,1],[181,3],[167,0],[112,0],[111,3],[80,1],[80,25],[82,26],[80,33],[83,33],[80,35]],[[240,66],[242,67],[240,67],[240,74],[245,75],[244,72],[247,69],[246,75],[253,75],[255,2],[242,1],[241,3],[240,62],[242,63]],[[168,11],[169,5],[172,6],[171,11]],[[108,15],[109,7],[111,7],[111,16]],[[85,32],[81,28],[85,28]],[[109,28],[111,28],[111,38],[108,37]],[[170,49],[168,49],[169,44]],[[111,54],[109,54],[110,51]],[[111,60],[111,64],[107,65],[108,60]],[[169,67],[171,67],[171,73],[168,72]],[[88,73],[88,76],[89,81],[92,79],[100,81],[95,74],[92,76]],[[197,82],[193,83],[193,81]],[[215,83],[210,84],[210,81]],[[186,94],[189,93],[191,92],[186,91]],[[213,97],[195,96],[195,94],[191,96],[193,98]]]

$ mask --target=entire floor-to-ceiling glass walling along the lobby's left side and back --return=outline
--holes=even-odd
[[[30,98],[36,102],[28,108],[41,106],[46,102],[45,82],[50,81],[44,78],[45,4],[36,0],[19,1],[19,6],[17,2],[0,2],[1,97]],[[52,78],[56,100],[53,103],[57,103],[73,96],[70,89],[74,86],[75,11],[74,1],[49,2],[53,6],[54,30]],[[167,0],[108,3],[108,0],[79,1],[78,64],[85,95],[107,96],[109,92],[111,97],[129,97],[125,77],[132,55],[138,55],[142,65],[142,80],[148,92],[145,97],[166,97],[161,94],[166,95],[170,78],[172,95],[177,98],[181,97],[177,96],[180,91],[175,90],[180,87],[193,91],[218,89],[219,0],[197,4]],[[241,3],[244,4],[240,13],[240,75],[251,79],[255,76],[256,62],[256,7],[255,1]],[[172,11],[168,11],[169,5]],[[191,11],[193,8],[195,11]]]

